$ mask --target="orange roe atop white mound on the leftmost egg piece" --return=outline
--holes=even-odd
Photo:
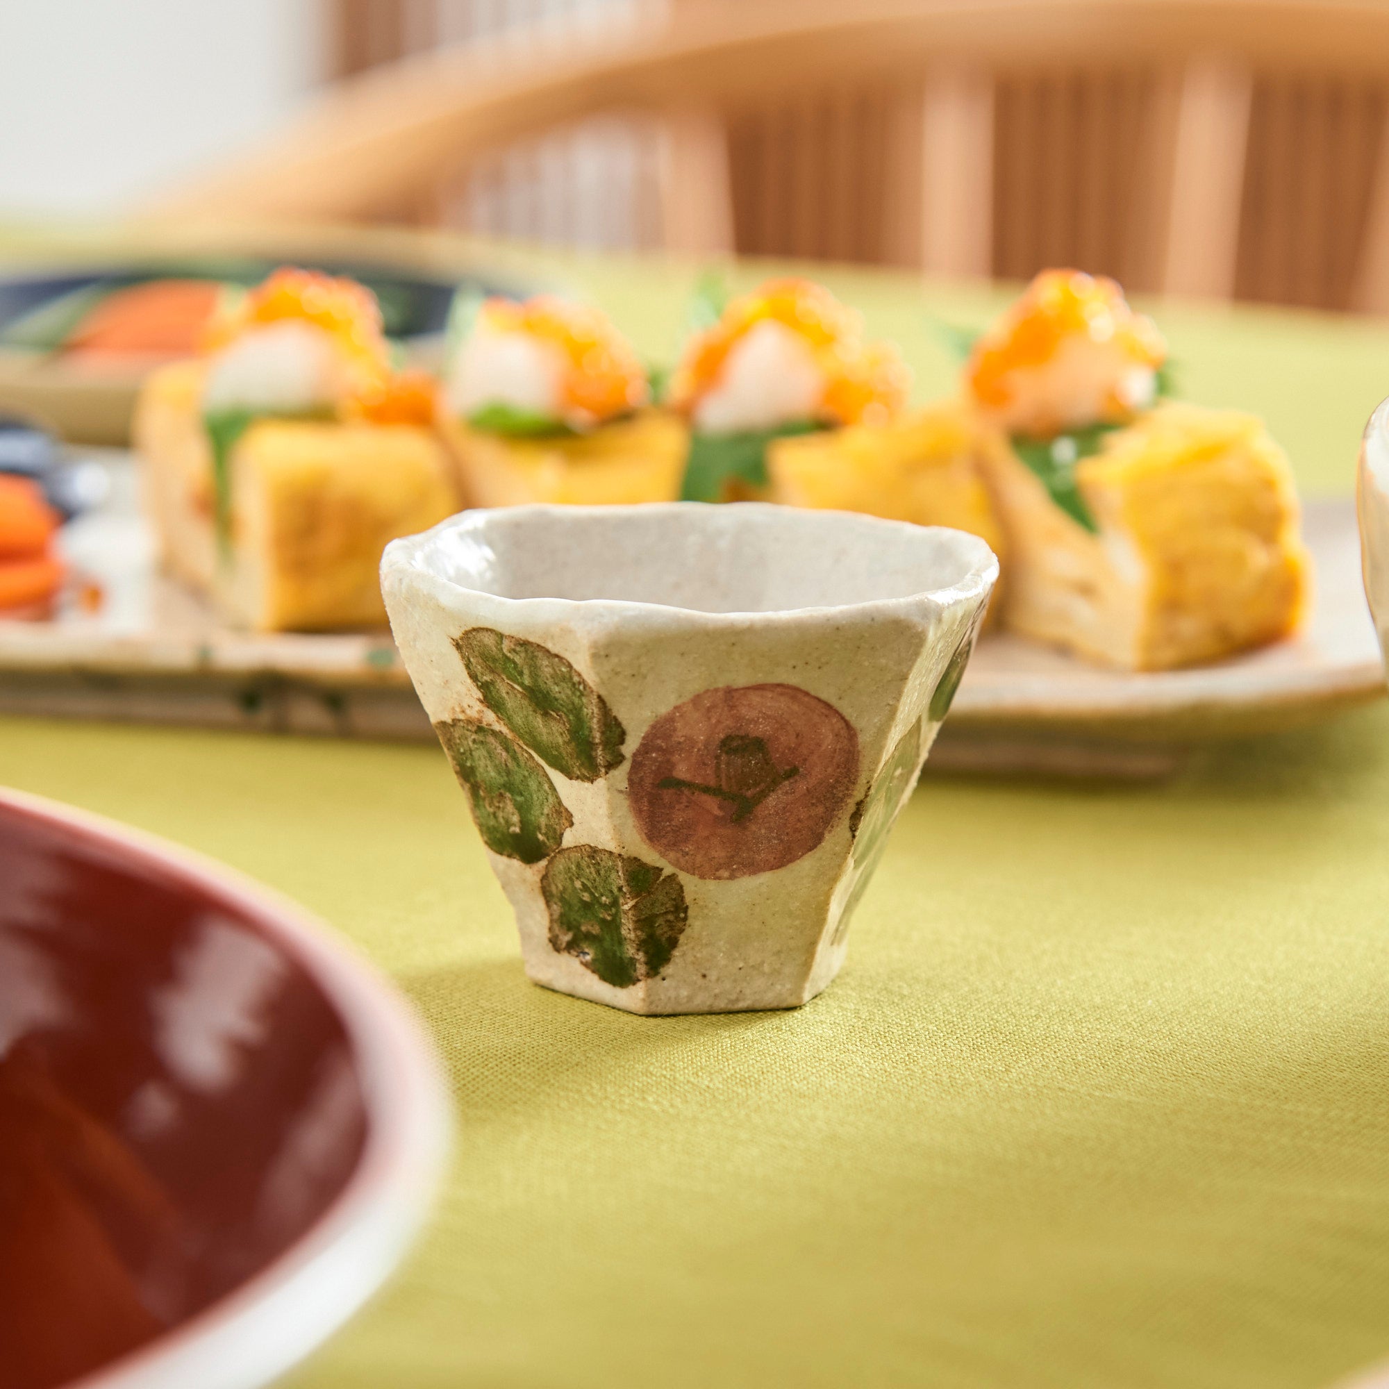
[[[386,376],[389,354],[376,296],[353,279],[289,265],[218,315],[208,328],[204,350],[217,351],[249,328],[285,319],[313,324],[328,333],[361,382]]]

